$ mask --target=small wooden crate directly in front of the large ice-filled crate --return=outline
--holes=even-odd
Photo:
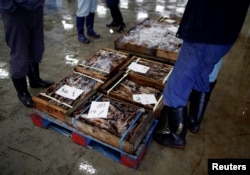
[[[150,81],[150,85],[152,87],[156,87],[158,89],[163,90],[164,84],[167,81],[169,75],[172,72],[173,65],[167,64],[167,63],[161,63],[158,61],[152,61],[149,59],[145,59],[142,57],[135,57],[134,61],[132,63],[136,63],[139,66],[145,66],[146,68],[149,68],[147,72],[140,72],[137,70],[129,69],[127,68],[127,73],[131,77],[136,77],[138,81],[143,82],[144,80]],[[136,69],[137,67],[135,67]]]

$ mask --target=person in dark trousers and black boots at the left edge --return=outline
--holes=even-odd
[[[39,63],[44,52],[43,6],[45,0],[1,0],[5,40],[10,48],[10,74],[19,100],[34,107],[27,89],[47,88],[54,82],[40,78]]]

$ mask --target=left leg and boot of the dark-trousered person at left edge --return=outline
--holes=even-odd
[[[19,100],[26,107],[34,107],[27,89],[26,75],[29,70],[31,14],[17,8],[13,13],[2,13],[5,40],[10,48],[10,75]]]

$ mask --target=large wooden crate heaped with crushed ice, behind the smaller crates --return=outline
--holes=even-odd
[[[178,25],[178,20],[166,17],[157,20],[145,19],[115,40],[114,46],[117,50],[144,54],[174,63],[182,40],[176,38],[170,29],[178,28]]]

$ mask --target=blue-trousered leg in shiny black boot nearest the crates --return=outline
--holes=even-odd
[[[200,71],[196,47],[184,42],[174,69],[163,90],[164,108],[155,131],[156,142],[173,148],[184,148],[186,141],[187,101]]]

